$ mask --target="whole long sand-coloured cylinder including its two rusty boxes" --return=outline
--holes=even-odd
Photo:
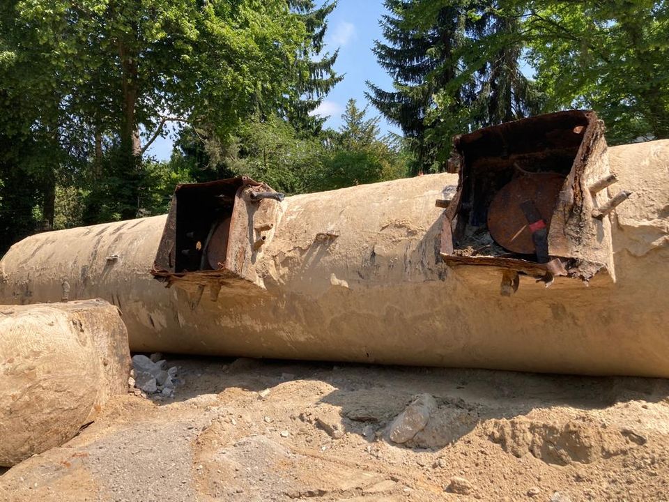
[[[286,198],[180,185],[17,243],[0,300],[105,298],[133,351],[668,377],[669,142],[602,133],[525,119],[456,139],[459,175]]]

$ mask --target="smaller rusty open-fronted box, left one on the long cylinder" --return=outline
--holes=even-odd
[[[282,198],[247,176],[177,185],[153,264],[154,277],[185,287],[256,283],[255,257],[269,236],[266,230],[273,228]],[[263,225],[254,225],[260,216]]]

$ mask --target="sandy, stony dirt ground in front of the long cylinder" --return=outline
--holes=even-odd
[[[669,500],[666,380],[168,360],[174,397],[117,397],[0,471],[0,500]],[[392,443],[425,393],[426,426]]]

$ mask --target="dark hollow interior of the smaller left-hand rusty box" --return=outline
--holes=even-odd
[[[175,193],[175,273],[222,268],[240,185],[240,181],[231,179],[178,188]]]

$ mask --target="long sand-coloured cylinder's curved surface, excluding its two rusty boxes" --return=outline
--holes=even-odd
[[[286,198],[254,294],[155,280],[157,216],[24,239],[0,302],[105,298],[133,351],[669,377],[669,141],[609,155],[633,192],[608,217],[615,282],[522,277],[507,297],[495,268],[449,268],[435,200],[458,177],[433,174]]]

